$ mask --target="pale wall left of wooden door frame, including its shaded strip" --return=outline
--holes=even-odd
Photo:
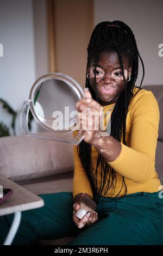
[[[16,111],[36,78],[48,72],[46,25],[46,0],[0,0],[0,98]],[[1,105],[0,121],[11,122]]]

